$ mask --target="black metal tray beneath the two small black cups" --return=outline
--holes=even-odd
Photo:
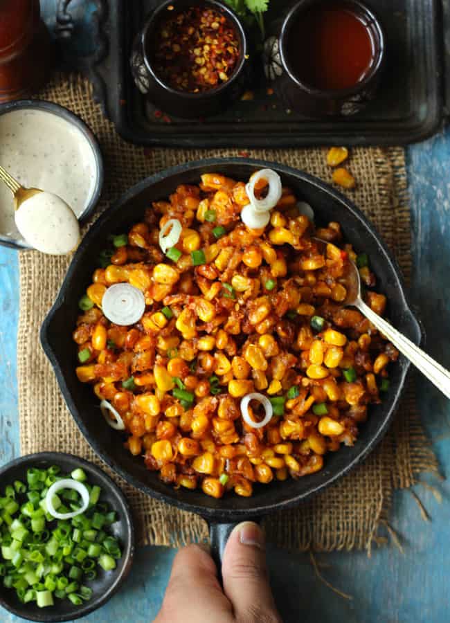
[[[298,147],[403,145],[421,141],[442,125],[444,32],[440,0],[372,0],[386,28],[388,62],[377,98],[352,118],[314,120],[286,111],[267,94],[255,62],[253,100],[206,120],[168,118],[145,103],[134,87],[129,53],[134,35],[160,0],[109,0],[102,10],[98,53],[89,68],[96,98],[127,141],[175,147]],[[447,0],[444,0],[447,1]],[[102,5],[102,3],[98,3]],[[280,15],[291,1],[272,0]],[[105,50],[105,54],[100,53]]]

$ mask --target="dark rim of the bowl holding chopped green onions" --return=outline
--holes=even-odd
[[[94,476],[100,481],[102,489],[109,489],[109,491],[114,491],[116,496],[118,496],[118,500],[120,503],[119,510],[123,513],[123,518],[121,519],[121,521],[124,522],[126,533],[126,542],[123,543],[123,558],[121,559],[123,560],[123,564],[120,572],[118,572],[117,577],[114,579],[114,581],[111,582],[111,584],[104,593],[100,593],[100,595],[97,596],[94,594],[91,599],[89,599],[89,601],[83,602],[83,604],[81,604],[80,606],[74,605],[73,608],[71,608],[70,613],[58,615],[56,612],[58,602],[55,602],[55,606],[51,606],[50,608],[42,608],[42,613],[39,612],[39,616],[37,618],[31,618],[30,614],[27,612],[27,604],[20,604],[20,607],[17,608],[11,606],[10,604],[8,604],[8,602],[6,602],[3,597],[3,586],[1,586],[0,588],[0,606],[3,606],[3,608],[18,617],[22,617],[28,621],[37,621],[42,623],[60,623],[62,621],[72,621],[88,615],[94,610],[100,608],[100,606],[109,601],[109,599],[111,599],[111,597],[113,597],[113,595],[117,593],[120,586],[122,586],[125,579],[127,579],[129,571],[132,568],[135,550],[132,509],[129,507],[129,503],[125,498],[123,491],[120,489],[120,487],[118,487],[118,485],[116,485],[114,480],[112,480],[105,471],[103,471],[96,464],[93,464],[84,458],[66,452],[37,452],[20,456],[0,467],[0,478],[1,480],[3,480],[3,478],[8,478],[8,471],[15,467],[23,466],[25,468],[27,465],[32,465],[39,461],[46,461],[49,464],[59,464],[60,462],[64,462],[66,464],[72,463],[72,469],[75,469],[76,467],[82,467],[86,471],[93,472]]]

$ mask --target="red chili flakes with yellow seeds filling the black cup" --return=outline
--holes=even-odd
[[[190,7],[161,23],[154,69],[177,91],[201,93],[231,78],[240,57],[235,28],[217,10]]]

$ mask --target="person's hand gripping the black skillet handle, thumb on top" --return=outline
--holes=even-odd
[[[282,623],[258,524],[244,521],[231,532],[222,577],[224,588],[213,559],[200,545],[179,550],[154,623]]]

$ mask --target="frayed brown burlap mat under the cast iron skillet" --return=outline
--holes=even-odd
[[[103,118],[100,107],[91,100],[89,84],[80,78],[55,78],[40,96],[79,114],[98,136],[106,170],[100,210],[136,181],[165,167],[206,156],[242,155],[238,150],[143,150],[129,145]],[[282,162],[329,181],[325,153],[323,149],[249,150],[249,156]],[[357,189],[351,192],[352,199],[384,235],[408,278],[410,216],[404,151],[355,149],[350,166],[358,181]],[[20,253],[17,358],[21,451],[69,451],[100,462],[75,426],[39,345],[39,327],[55,300],[68,264],[69,258],[46,257],[33,251]],[[435,458],[415,414],[410,390],[393,429],[377,451],[323,494],[298,509],[269,518],[269,539],[280,546],[302,550],[370,548],[380,522],[386,521],[393,489],[410,487],[418,472],[435,469]],[[125,482],[120,482],[120,486],[134,508],[141,543],[179,545],[206,538],[206,524],[199,517],[158,503]]]

